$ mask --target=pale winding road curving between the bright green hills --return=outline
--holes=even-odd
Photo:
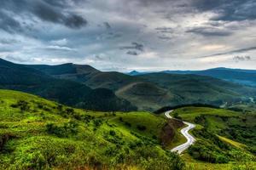
[[[166,117],[169,119],[172,119],[172,116],[170,116],[171,112],[172,111],[166,111],[166,113],[165,113]],[[175,118],[173,118],[173,119],[175,119]],[[187,139],[187,142],[184,144],[180,144],[171,150],[172,152],[177,152],[178,154],[181,154],[184,150],[187,150],[189,148],[189,146],[194,144],[194,142],[195,142],[195,138],[189,134],[189,130],[195,128],[195,124],[192,124],[190,122],[183,122],[183,123],[188,125],[188,127],[184,127],[181,130],[181,133]]]

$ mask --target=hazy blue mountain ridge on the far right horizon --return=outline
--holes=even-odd
[[[236,82],[256,87],[256,71],[242,69],[215,68],[205,71],[161,71],[168,74],[195,74],[216,77],[229,82]]]

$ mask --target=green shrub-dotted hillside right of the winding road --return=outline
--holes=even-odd
[[[183,120],[197,124],[192,131],[197,141],[184,159],[194,169],[254,169],[256,158],[255,120],[253,112],[236,112],[206,107],[183,107],[172,112]],[[189,155],[188,155],[189,154]],[[195,160],[195,161],[194,161]],[[198,163],[198,164],[197,164]],[[213,163],[213,165],[212,165]],[[228,164],[227,164],[228,163]],[[208,165],[208,166],[207,166]],[[198,166],[198,167],[197,167]],[[192,167],[189,167],[193,169]],[[195,168],[197,167],[197,168]]]

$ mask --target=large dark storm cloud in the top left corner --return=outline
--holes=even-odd
[[[58,3],[57,3],[58,2]],[[22,31],[19,20],[13,15],[20,14],[27,17],[37,16],[40,20],[61,24],[69,28],[78,29],[87,25],[87,20],[78,14],[66,12],[67,1],[46,0],[3,0],[0,7],[1,28],[4,31]],[[5,13],[9,11],[9,13]]]

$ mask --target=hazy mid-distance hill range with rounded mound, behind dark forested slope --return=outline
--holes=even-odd
[[[132,71],[130,76],[115,71],[98,71],[90,65],[28,65],[51,77],[81,82],[90,88],[108,88],[139,110],[154,111],[166,105],[205,103],[223,105],[256,96],[255,88],[201,75]],[[181,73],[185,75],[181,75]]]

